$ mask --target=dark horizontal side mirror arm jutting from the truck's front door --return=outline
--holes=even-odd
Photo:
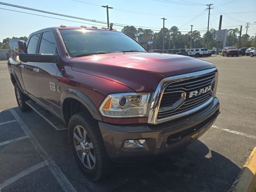
[[[58,63],[59,57],[57,54],[24,54],[20,53],[19,58],[22,62],[46,62]]]

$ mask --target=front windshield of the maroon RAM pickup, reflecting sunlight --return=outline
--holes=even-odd
[[[146,52],[135,40],[120,32],[90,29],[59,31],[71,57],[112,52]]]

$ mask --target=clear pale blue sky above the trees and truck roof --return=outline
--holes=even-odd
[[[207,8],[205,4],[212,3],[214,9],[210,10],[209,28],[218,29],[220,13],[227,13],[223,14],[222,29],[236,27],[240,29],[239,25],[243,25],[242,34],[246,34],[245,24],[250,22],[248,34],[254,36],[256,33],[256,0],[2,0],[2,2],[104,22],[107,20],[106,8],[101,6],[108,5],[114,8],[109,10],[110,22],[114,24],[160,30],[163,25],[163,20],[160,18],[165,17],[167,18],[165,27],[178,26],[182,34],[186,34],[190,31],[190,25],[193,24],[193,30],[200,30],[201,35],[207,30],[208,11],[205,10]],[[1,42],[7,37],[28,36],[36,30],[49,26],[59,26],[62,23],[67,26],[80,26],[82,23],[86,23],[86,26],[106,26],[106,24],[54,16],[5,5],[0,5],[0,8],[61,19],[0,9]],[[74,22],[62,19],[73,20]],[[118,31],[122,29],[119,26],[114,26],[114,28]]]

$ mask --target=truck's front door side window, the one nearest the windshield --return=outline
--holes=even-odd
[[[39,53],[55,54],[56,43],[54,34],[50,31],[43,32],[40,42]]]

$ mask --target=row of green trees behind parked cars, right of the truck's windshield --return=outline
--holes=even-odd
[[[184,48],[185,45],[190,47],[190,37],[191,32],[187,34],[182,34],[178,27],[172,26],[170,29],[162,28],[159,32],[153,32],[150,29],[136,29],[134,26],[125,26],[122,29],[122,32],[128,34],[142,46],[147,47],[147,42],[152,41],[152,49],[162,49],[162,39],[164,36],[164,48]],[[164,33],[163,33],[164,32]],[[238,28],[228,29],[226,46],[235,46],[239,48],[239,32]],[[201,36],[200,31],[192,31],[192,48],[203,48],[206,47],[207,32]],[[248,34],[243,34],[240,40],[240,47],[256,47],[256,36],[249,36]],[[223,41],[220,42],[220,45],[223,44]],[[208,32],[208,49],[212,49],[217,46],[216,41],[216,30],[210,29]],[[221,46],[220,46],[221,47]]]

